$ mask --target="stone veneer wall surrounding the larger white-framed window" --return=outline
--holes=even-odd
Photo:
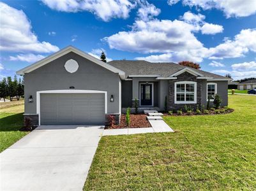
[[[168,83],[168,110],[181,110],[184,108],[185,104],[175,104],[174,103],[174,83],[177,81],[196,81],[197,82],[197,103],[196,104],[186,104],[186,106],[191,106],[192,108],[197,108],[197,105],[202,103],[202,80],[197,80],[197,76],[184,72],[177,76],[177,80],[169,80]]]

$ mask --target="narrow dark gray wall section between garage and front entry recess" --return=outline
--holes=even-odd
[[[122,108],[132,108],[132,81],[122,80]]]

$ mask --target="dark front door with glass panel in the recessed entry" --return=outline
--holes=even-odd
[[[153,106],[152,84],[140,84],[140,106]]]

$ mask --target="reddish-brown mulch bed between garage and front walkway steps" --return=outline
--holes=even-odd
[[[126,115],[122,114],[119,125],[113,125],[112,127],[106,126],[105,129],[124,129],[124,128],[142,128],[151,127],[145,114],[130,114],[130,126],[126,125]]]

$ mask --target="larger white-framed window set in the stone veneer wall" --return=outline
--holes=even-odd
[[[197,103],[197,82],[178,81],[174,83],[174,103]]]

